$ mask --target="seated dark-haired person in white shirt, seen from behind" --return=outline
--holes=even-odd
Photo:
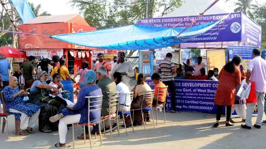
[[[119,107],[118,107],[118,111],[123,113],[125,111],[129,111],[130,110],[130,95],[126,93],[129,93],[129,88],[126,84],[124,84],[123,81],[123,76],[120,72],[115,72],[113,74],[113,81],[116,83],[116,90],[117,92],[121,92],[120,93],[120,100],[119,100]],[[127,99],[127,100],[126,100]]]

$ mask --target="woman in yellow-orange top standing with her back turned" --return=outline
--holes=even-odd
[[[61,75],[60,80],[72,80],[74,83],[76,83],[72,78],[71,75],[69,74],[69,71],[67,69],[66,65],[66,60],[65,59],[60,59],[60,66],[56,66],[53,68],[53,72],[51,73],[51,77],[55,73],[59,73]]]

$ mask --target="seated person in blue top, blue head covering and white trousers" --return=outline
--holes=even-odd
[[[68,124],[84,124],[88,122],[88,100],[86,96],[100,96],[102,90],[95,85],[96,73],[93,70],[88,70],[85,74],[86,87],[80,90],[77,103],[73,107],[67,106],[67,109],[62,110],[59,114],[52,116],[50,120],[55,122],[59,120],[59,142],[55,147],[66,147],[66,135]],[[97,101],[98,98],[91,98],[90,101]],[[99,105],[98,102],[90,103],[90,106]],[[91,107],[90,110],[98,109],[100,106]],[[90,122],[98,122],[100,120],[100,110],[90,112]],[[87,138],[87,137],[86,137]]]

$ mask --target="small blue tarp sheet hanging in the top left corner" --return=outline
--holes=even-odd
[[[31,7],[27,0],[10,0],[10,2],[20,16],[20,21],[22,22],[22,24],[35,18],[35,15],[31,10]]]

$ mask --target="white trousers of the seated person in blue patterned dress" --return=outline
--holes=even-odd
[[[21,130],[26,130],[27,128],[34,128],[37,121],[38,121],[38,117],[40,114],[40,109],[34,113],[31,117],[28,117],[25,113],[22,113],[18,110],[15,109],[9,109],[10,112],[13,113],[20,113],[20,129]]]

